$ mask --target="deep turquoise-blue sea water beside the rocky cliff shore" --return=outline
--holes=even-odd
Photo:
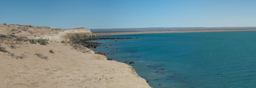
[[[98,40],[106,44],[96,50],[114,53],[107,58],[135,61],[128,65],[154,88],[256,87],[256,31],[98,37],[140,37]]]

